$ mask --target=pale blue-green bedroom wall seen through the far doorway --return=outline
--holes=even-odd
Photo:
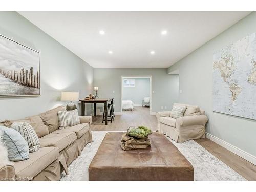
[[[123,86],[123,100],[132,100],[134,104],[142,105],[144,97],[150,97],[149,78],[135,78],[135,87]]]

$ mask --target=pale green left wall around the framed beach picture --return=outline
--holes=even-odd
[[[40,52],[41,77],[39,97],[0,97],[0,120],[66,105],[60,101],[61,90],[79,91],[80,98],[92,92],[94,69],[17,12],[0,12],[0,34]],[[91,114],[91,106],[87,114]]]

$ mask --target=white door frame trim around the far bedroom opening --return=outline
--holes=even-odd
[[[120,108],[120,115],[122,115],[123,114],[123,78],[150,78],[150,114],[152,113],[152,111],[151,111],[151,108],[152,108],[152,75],[121,75],[121,83],[120,83],[120,85],[121,85],[121,99],[120,99],[120,106],[121,106],[121,108]],[[142,106],[142,105],[141,105]]]

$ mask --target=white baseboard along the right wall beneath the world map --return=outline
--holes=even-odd
[[[214,136],[214,135],[211,135],[209,133],[206,133],[205,134],[206,138],[216,142],[217,144],[223,146],[224,148],[226,148],[227,150],[229,150],[230,152],[233,152],[234,154],[237,154],[238,156],[244,158],[245,160],[251,162],[252,164],[256,165],[256,157],[241,150],[241,148],[238,148],[226,141],[223,141],[222,139]]]

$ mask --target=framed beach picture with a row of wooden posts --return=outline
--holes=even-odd
[[[0,35],[0,96],[40,95],[39,52]]]

